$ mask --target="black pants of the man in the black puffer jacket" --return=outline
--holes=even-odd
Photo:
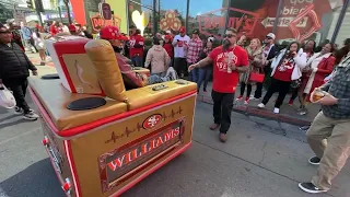
[[[28,81],[26,78],[3,80],[2,82],[9,90],[13,92],[16,106],[23,108],[24,114],[28,113],[31,108],[25,102],[26,88],[28,86]]]

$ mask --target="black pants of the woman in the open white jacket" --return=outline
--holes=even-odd
[[[264,96],[262,104],[266,105],[271,99],[272,94],[275,92],[278,92],[278,97],[276,100],[275,107],[280,108],[280,106],[283,104],[285,95],[289,92],[290,86],[291,82],[280,81],[272,78],[271,84]]]

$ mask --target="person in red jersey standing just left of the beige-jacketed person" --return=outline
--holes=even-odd
[[[141,31],[136,30],[130,37],[130,58],[135,66],[142,67],[144,38],[140,35]]]

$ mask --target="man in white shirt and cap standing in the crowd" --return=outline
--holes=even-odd
[[[180,78],[184,78],[185,73],[187,73],[187,44],[190,38],[186,35],[185,27],[179,28],[179,34],[176,35],[173,39],[174,46],[174,69]]]

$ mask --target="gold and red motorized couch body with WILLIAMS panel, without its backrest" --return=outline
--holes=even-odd
[[[195,83],[148,85],[124,92],[126,102],[106,97],[104,106],[70,111],[72,101],[97,95],[71,93],[57,79],[28,81],[42,142],[67,196],[119,196],[191,144]]]

